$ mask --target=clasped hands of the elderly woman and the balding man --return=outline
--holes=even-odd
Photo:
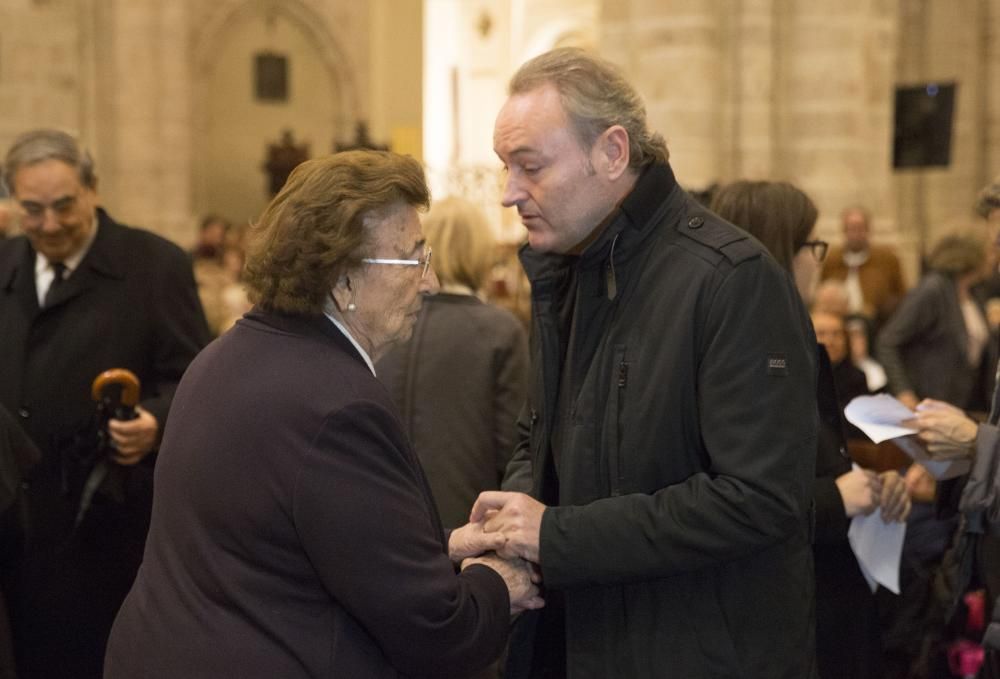
[[[489,566],[510,591],[511,613],[545,605],[538,585],[538,536],[545,505],[524,493],[486,491],[472,506],[469,523],[448,541],[452,561]]]

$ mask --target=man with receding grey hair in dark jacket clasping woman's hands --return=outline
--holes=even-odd
[[[678,186],[636,91],[584,51],[522,66],[493,141],[534,377],[471,518],[546,588],[505,676],[814,677],[816,341],[791,278]]]

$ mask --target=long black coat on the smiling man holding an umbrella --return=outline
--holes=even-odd
[[[128,468],[119,501],[99,495],[71,532],[88,471],[75,461],[75,439],[95,413],[92,381],[109,368],[133,371],[162,431],[181,374],[208,339],[187,255],[103,210],[97,219],[90,249],[44,309],[28,240],[0,244],[0,404],[43,454],[30,476],[32,532],[12,587],[28,676],[100,675],[108,630],[142,555],[151,458]]]

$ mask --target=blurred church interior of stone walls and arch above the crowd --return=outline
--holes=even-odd
[[[1000,0],[0,0],[0,147],[77,133],[112,214],[188,246],[260,212],[283,150],[362,132],[514,242],[493,120],[521,63],[576,45],[625,69],[684,186],[792,181],[834,242],[867,205],[913,282],[1000,174],[998,38]],[[950,161],[894,170],[896,88],[938,83]]]

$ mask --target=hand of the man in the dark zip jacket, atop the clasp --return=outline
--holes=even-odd
[[[538,540],[542,530],[545,505],[524,493],[506,493],[487,490],[479,494],[472,505],[469,521],[485,519],[487,533],[499,532],[507,543],[497,553],[505,559],[521,557],[533,563],[538,561]]]

